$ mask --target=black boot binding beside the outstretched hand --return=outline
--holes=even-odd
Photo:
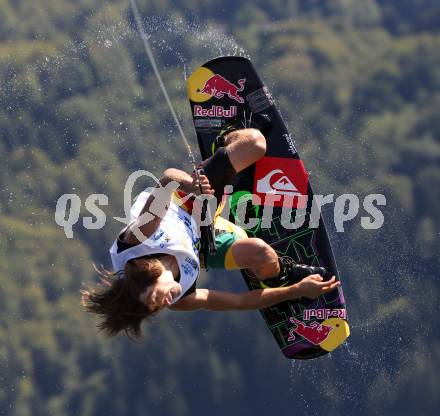
[[[280,275],[278,277],[261,281],[263,285],[268,287],[291,286],[311,274],[319,274],[324,280],[331,277],[331,273],[324,267],[298,264],[288,256],[279,257],[278,261],[280,263]]]

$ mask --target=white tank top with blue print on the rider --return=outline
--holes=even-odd
[[[150,193],[142,192],[131,207],[130,223],[139,217]],[[117,239],[110,248],[113,269],[115,272],[124,270],[125,264],[138,257],[151,254],[169,254],[177,260],[180,270],[182,292],[173,299],[177,302],[194,284],[200,273],[199,244],[196,223],[192,216],[174,202],[170,203],[165,217],[154,234],[142,243],[129,247],[118,253]],[[125,227],[121,233],[123,233]]]

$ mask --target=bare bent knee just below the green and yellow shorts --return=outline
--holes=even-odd
[[[251,270],[260,280],[278,276],[280,273],[275,250],[259,238],[237,240],[231,250],[240,268]]]

